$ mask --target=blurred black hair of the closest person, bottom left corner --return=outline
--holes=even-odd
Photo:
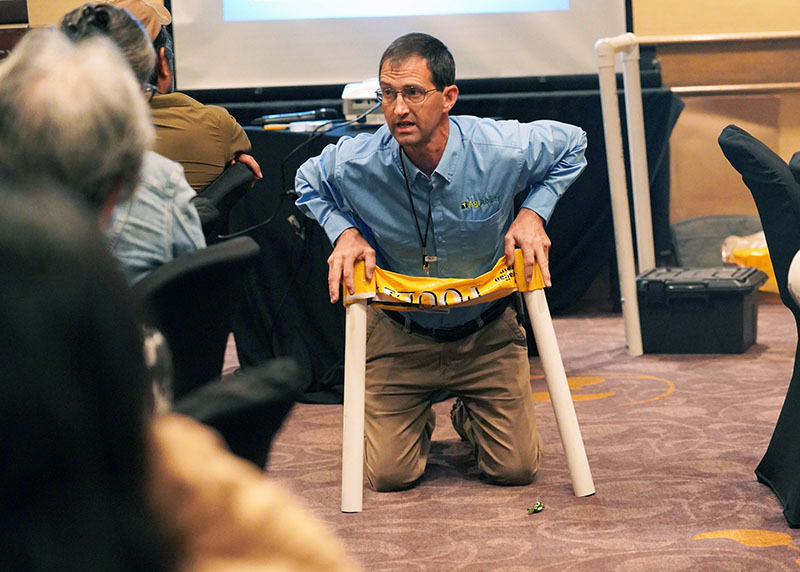
[[[54,188],[0,181],[0,570],[177,570],[127,286],[94,213]]]

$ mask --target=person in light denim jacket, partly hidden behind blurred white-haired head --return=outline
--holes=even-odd
[[[145,92],[152,92],[148,80],[155,52],[144,28],[128,11],[87,4],[65,15],[61,30],[76,42],[97,35],[108,37],[121,50]],[[146,93],[140,96],[143,101]],[[144,121],[149,121],[146,115]],[[129,282],[141,280],[181,254],[205,247],[200,218],[191,202],[194,196],[178,163],[152,151],[145,154],[136,192],[115,206],[106,228],[111,252]]]

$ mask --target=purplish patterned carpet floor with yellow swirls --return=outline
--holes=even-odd
[[[796,331],[774,297],[743,354],[628,356],[619,314],[554,320],[597,493],[577,498],[537,358],[545,457],[533,484],[481,481],[435,406],[419,485],[339,511],[341,406],[298,404],[268,476],[327,522],[369,571],[794,571],[800,531],[753,474],[792,371]],[[800,478],[800,475],[798,476]],[[526,510],[537,501],[545,508]]]

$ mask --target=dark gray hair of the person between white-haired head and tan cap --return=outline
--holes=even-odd
[[[84,4],[61,19],[61,31],[71,40],[108,36],[122,51],[140,84],[150,81],[156,67],[153,42],[142,23],[123,8]]]

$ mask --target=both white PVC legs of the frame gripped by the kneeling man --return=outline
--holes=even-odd
[[[567,468],[576,496],[594,494],[578,418],[558,349],[544,290],[524,292],[536,347],[544,369]],[[342,431],[342,512],[361,512],[364,494],[364,392],[366,384],[367,299],[345,310],[344,418]]]

